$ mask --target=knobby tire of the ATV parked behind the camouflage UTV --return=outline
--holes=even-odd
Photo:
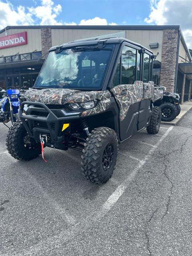
[[[161,120],[164,122],[170,122],[174,120],[177,116],[177,107],[170,103],[170,102],[164,102],[160,105],[162,116]]]

